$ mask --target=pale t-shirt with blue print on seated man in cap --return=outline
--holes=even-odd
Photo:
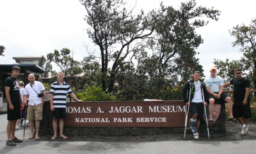
[[[224,85],[224,81],[220,76],[216,76],[215,78],[209,76],[209,78],[204,80],[204,83],[212,92],[220,92],[220,86]]]

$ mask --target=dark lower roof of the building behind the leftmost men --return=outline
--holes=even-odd
[[[20,67],[20,73],[44,73],[44,69],[36,64],[0,64],[1,72],[12,72],[13,66]]]

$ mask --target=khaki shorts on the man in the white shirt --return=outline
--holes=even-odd
[[[43,106],[44,104],[40,103],[35,106],[28,105],[28,120],[42,120],[43,119]]]

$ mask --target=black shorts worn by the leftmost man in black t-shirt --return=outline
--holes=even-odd
[[[9,109],[9,104],[7,103],[7,120],[18,120],[20,119],[20,101],[12,101],[13,110]]]

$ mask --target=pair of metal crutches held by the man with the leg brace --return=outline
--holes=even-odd
[[[192,87],[192,85],[189,85],[189,101],[188,101],[189,103],[190,103],[190,96],[191,96],[191,87]],[[201,86],[201,92],[202,92],[203,104],[204,104],[204,102],[205,102],[205,100],[204,100],[204,90],[203,90],[202,86]],[[187,95],[188,95],[188,92],[187,92]],[[187,127],[187,123],[188,123],[189,106],[190,106],[190,104],[188,105],[188,111],[187,111],[187,106],[185,106],[186,116],[185,116],[184,138],[186,137],[186,127]],[[205,112],[205,121],[206,121],[206,125],[207,125],[208,138],[210,138],[208,120],[207,120],[207,112],[206,112],[205,104],[204,104],[204,112]]]

